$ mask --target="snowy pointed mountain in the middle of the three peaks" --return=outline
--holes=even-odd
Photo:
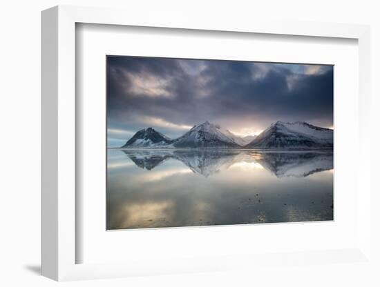
[[[206,121],[193,126],[173,142],[175,148],[239,148],[242,139],[219,125]]]

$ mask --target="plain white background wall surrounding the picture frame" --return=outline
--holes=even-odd
[[[5,0],[0,8],[0,285],[53,286],[39,276],[40,266],[40,11],[55,5],[114,6],[144,10],[182,10],[193,14],[235,17],[269,17],[370,24],[372,29],[372,123],[379,127],[380,20],[378,1],[117,1],[117,0]],[[372,126],[373,148],[379,128]],[[372,159],[374,175],[378,152]],[[379,184],[372,180],[372,184]],[[379,195],[372,201],[380,202]],[[379,260],[379,211],[373,210],[374,254]],[[377,261],[379,263],[379,261]],[[377,268],[344,264],[267,269],[257,274],[239,271],[160,277],[137,277],[108,281],[79,281],[68,286],[379,286]]]

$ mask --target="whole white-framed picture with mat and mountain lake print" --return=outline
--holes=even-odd
[[[42,12],[43,275],[371,264],[369,35]]]

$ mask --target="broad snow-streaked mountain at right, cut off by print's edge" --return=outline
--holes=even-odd
[[[296,121],[277,121],[245,148],[332,148],[333,130]]]

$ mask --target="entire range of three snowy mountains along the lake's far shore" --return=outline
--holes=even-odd
[[[206,121],[193,126],[177,139],[170,139],[153,128],[146,128],[121,148],[257,148],[318,149],[333,147],[333,130],[296,121],[272,123],[258,136],[238,137],[221,126]]]

